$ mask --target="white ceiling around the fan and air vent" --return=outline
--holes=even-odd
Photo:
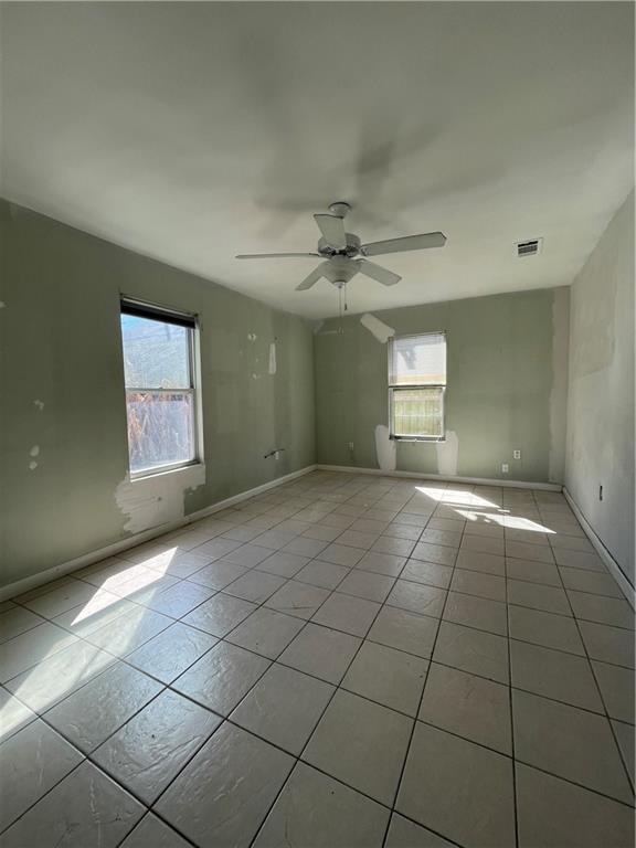
[[[632,3],[4,3],[2,193],[308,317],[311,213],[381,257],[350,310],[572,280],[633,181]],[[518,259],[515,242],[543,236]]]

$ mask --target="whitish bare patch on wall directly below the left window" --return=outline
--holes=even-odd
[[[127,518],[124,529],[140,533],[183,518],[186,492],[204,484],[204,465],[192,465],[137,480],[126,475],[115,490],[117,506]]]

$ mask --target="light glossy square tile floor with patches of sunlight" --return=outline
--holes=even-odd
[[[0,610],[2,848],[634,845],[560,494],[314,473]]]

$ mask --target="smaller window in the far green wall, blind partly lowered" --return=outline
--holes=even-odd
[[[389,339],[391,437],[444,438],[446,335]]]

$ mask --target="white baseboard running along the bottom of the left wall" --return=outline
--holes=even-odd
[[[67,562],[62,562],[60,565],[53,565],[53,568],[46,569],[46,571],[40,571],[36,574],[31,574],[28,577],[15,581],[14,583],[8,583],[4,586],[0,586],[0,601],[7,601],[11,597],[15,597],[17,595],[21,595],[24,592],[30,592],[32,589],[38,589],[38,586],[42,586],[44,583],[49,583],[52,580],[62,577],[73,571],[84,569],[86,565],[93,565],[93,563],[99,562],[99,560],[105,560],[107,556],[114,556],[117,553],[121,553],[121,551],[129,550],[130,548],[136,548],[142,542],[148,542],[151,539],[156,539],[159,536],[169,533],[172,530],[178,530],[180,527],[191,524],[193,521],[198,521],[201,518],[212,516],[214,512],[220,512],[222,509],[232,507],[234,504],[240,504],[242,500],[247,500],[248,498],[261,495],[268,489],[274,489],[285,483],[295,480],[297,477],[304,477],[306,474],[316,470],[316,467],[317,466],[315,465],[308,465],[297,471],[286,474],[284,477],[276,477],[274,480],[264,483],[262,486],[256,486],[253,489],[247,489],[247,491],[233,495],[231,498],[220,500],[218,504],[212,504],[210,507],[199,509],[197,512],[192,512],[189,516],[183,516],[182,518],[176,519],[174,521],[168,521],[163,524],[158,524],[157,527],[153,527],[149,530],[144,530],[140,533],[135,533],[134,536],[127,536],[126,539],[120,539],[117,542],[107,544],[105,548],[99,548],[96,551],[84,553],[82,556],[76,556],[73,560],[68,560]]]

